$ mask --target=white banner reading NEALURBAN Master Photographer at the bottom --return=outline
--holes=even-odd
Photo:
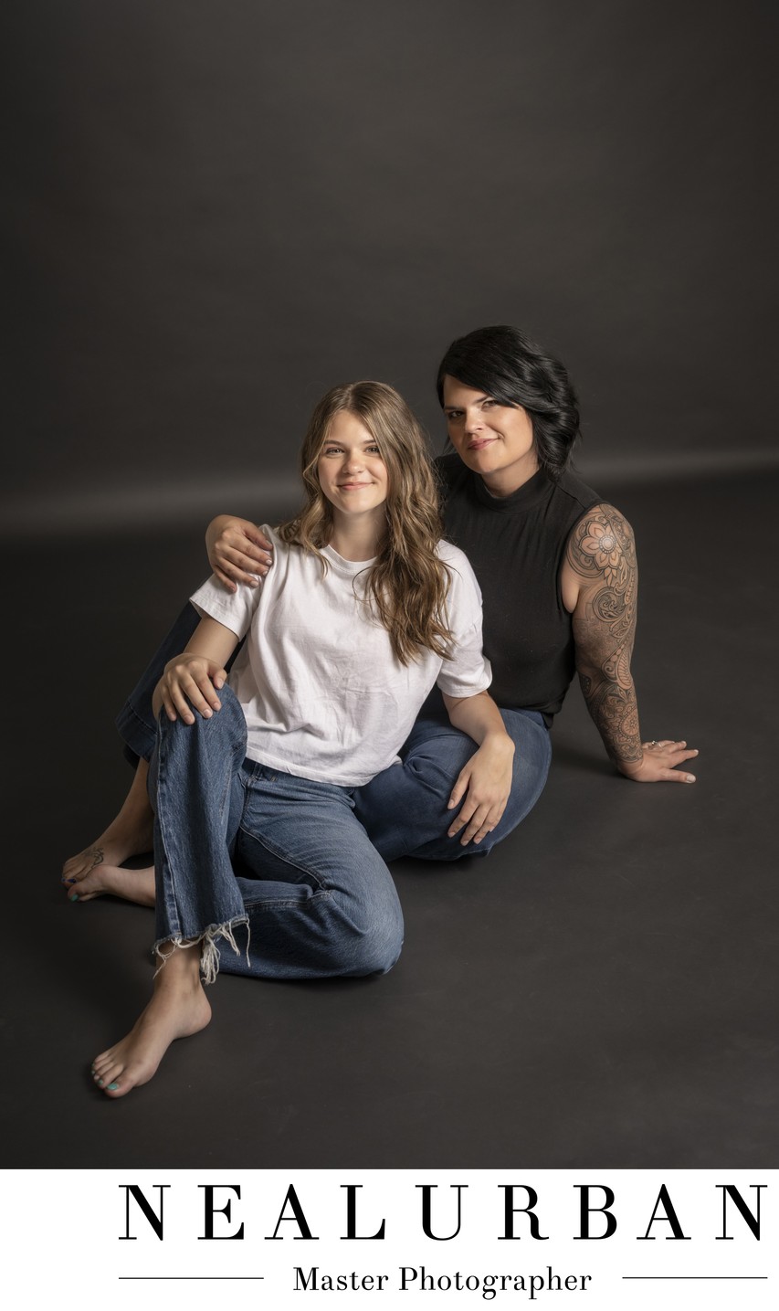
[[[8,1171],[7,1287],[62,1308],[776,1306],[775,1171]],[[306,1297],[308,1294],[308,1298]],[[563,1297],[561,1294],[568,1294]]]

